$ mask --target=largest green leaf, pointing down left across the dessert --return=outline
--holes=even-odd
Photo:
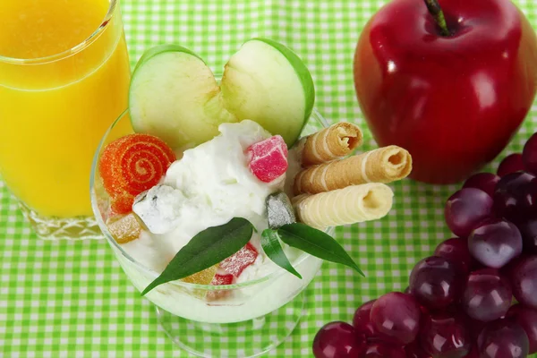
[[[250,241],[252,232],[253,225],[242,217],[234,217],[227,224],[201,231],[175,254],[160,276],[141,295],[166,282],[189,277],[226,260]]]

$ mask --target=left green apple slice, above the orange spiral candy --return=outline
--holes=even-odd
[[[218,125],[237,122],[226,110],[215,76],[200,57],[175,45],[153,47],[141,56],[129,90],[132,127],[175,149],[209,141]]]

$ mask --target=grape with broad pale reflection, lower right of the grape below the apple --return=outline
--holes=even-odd
[[[522,235],[506,220],[488,219],[468,237],[475,260],[489,268],[502,268],[522,253]]]

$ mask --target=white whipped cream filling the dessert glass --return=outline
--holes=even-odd
[[[270,133],[251,121],[221,124],[218,129],[221,135],[186,150],[183,158],[170,166],[161,183],[146,192],[145,198],[138,198],[133,210],[152,232],[143,231],[139,239],[122,247],[139,264],[161,272],[175,253],[200,231],[226,224],[233,217],[250,220],[258,231],[252,234],[251,244],[259,254],[253,264],[244,268],[235,284],[267,277],[279,270],[277,275],[236,288],[232,294],[212,303],[200,299],[195,289],[175,282],[158,286],[147,294],[151,302],[185,319],[231,323],[261,317],[293,300],[315,277],[322,260],[282,244],[286,256],[302,275],[300,279],[277,267],[260,247],[260,233],[268,227],[265,200],[270,193],[284,187],[290,192],[287,182],[300,170],[296,150],[289,151],[286,172],[289,180],[282,175],[273,183],[262,183],[251,174],[245,151],[251,144],[270,137]],[[139,290],[156,278],[127,260],[115,246],[113,249]]]

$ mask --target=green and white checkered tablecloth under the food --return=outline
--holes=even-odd
[[[537,4],[518,0],[537,28]],[[301,55],[330,121],[363,124],[354,96],[352,61],[360,30],[383,4],[374,0],[124,0],[132,64],[144,49],[177,43],[200,54],[215,72],[253,37],[274,38]],[[537,64],[536,64],[537,65]],[[533,107],[504,154],[520,150],[535,130]],[[365,148],[375,146],[365,132]],[[496,168],[498,161],[489,168]],[[367,278],[325,263],[311,284],[308,314],[285,344],[268,356],[311,356],[311,341],[330,320],[403,290],[409,270],[449,237],[443,205],[456,186],[411,181],[392,185],[388,217],[339,227],[337,238]],[[0,183],[0,356],[185,357],[158,327],[153,305],[140,297],[105,241],[48,242],[31,233]],[[244,343],[245,345],[248,342]]]

